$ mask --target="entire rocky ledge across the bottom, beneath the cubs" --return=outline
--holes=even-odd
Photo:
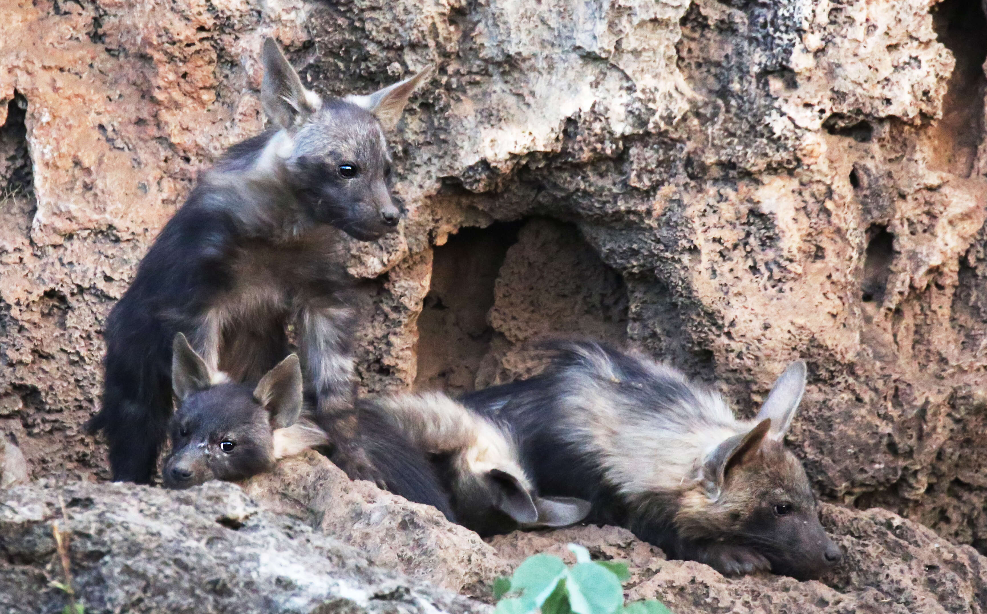
[[[0,609],[60,611],[62,557],[87,613],[489,612],[491,583],[568,543],[625,561],[628,599],[676,614],[982,614],[987,558],[891,512],[824,505],[845,561],[820,580],[729,579],[612,526],[515,532],[490,544],[314,455],[243,485],[188,491],[51,481],[0,491]],[[462,587],[478,600],[444,588]]]

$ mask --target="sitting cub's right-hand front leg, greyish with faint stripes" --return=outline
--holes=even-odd
[[[315,393],[315,419],[333,443],[333,462],[350,479],[370,480],[383,488],[359,441],[351,348],[355,320],[349,307],[306,302],[298,311],[298,349],[306,385]]]

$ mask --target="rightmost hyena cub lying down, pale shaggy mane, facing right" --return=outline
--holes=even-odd
[[[644,356],[596,343],[556,347],[549,370],[464,402],[511,425],[542,492],[588,500],[589,520],[623,524],[670,557],[723,574],[821,575],[842,558],[808,478],[782,442],[804,363],[757,417]]]

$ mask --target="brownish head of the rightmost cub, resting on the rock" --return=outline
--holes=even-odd
[[[817,578],[839,563],[808,477],[782,440],[805,386],[805,364],[779,377],[746,433],[720,443],[705,459],[697,489],[688,491],[674,518],[679,531],[698,541],[747,546],[776,574]]]

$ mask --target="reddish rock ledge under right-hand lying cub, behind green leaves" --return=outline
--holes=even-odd
[[[987,558],[973,548],[954,546],[883,510],[823,506],[822,519],[846,559],[820,581],[770,575],[725,579],[705,565],[665,561],[660,550],[616,527],[513,533],[494,538],[493,547],[516,565],[536,552],[574,563],[564,544],[582,544],[594,558],[629,563],[629,599],[661,599],[676,614],[987,611]]]

